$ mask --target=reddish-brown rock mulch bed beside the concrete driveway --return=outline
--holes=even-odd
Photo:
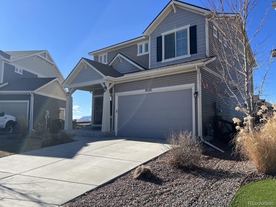
[[[228,206],[240,185],[259,175],[227,145],[214,144],[225,153],[205,152],[196,169],[177,169],[163,154],[146,164],[154,174],[150,180],[134,179],[132,170],[63,206]]]

